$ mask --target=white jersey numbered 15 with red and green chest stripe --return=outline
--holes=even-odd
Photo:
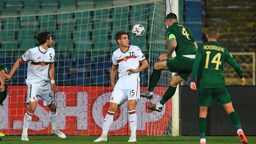
[[[141,52],[140,48],[136,45],[130,45],[129,50],[127,52],[122,52],[121,49],[117,49],[115,52],[113,52],[112,55],[112,61],[113,65],[117,66],[119,77],[140,77],[140,73],[132,73],[129,74],[126,72],[127,69],[137,69],[140,66],[140,62],[143,62],[146,60],[145,56]]]

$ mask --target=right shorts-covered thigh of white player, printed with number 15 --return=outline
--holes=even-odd
[[[139,78],[129,78],[126,85],[126,96],[129,100],[140,101],[140,79]]]

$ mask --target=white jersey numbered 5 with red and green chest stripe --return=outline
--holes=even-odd
[[[41,46],[31,48],[21,56],[22,60],[28,62],[27,85],[43,86],[50,83],[48,69],[49,64],[54,62],[54,56],[52,47],[45,50]]]

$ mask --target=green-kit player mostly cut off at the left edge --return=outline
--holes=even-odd
[[[5,74],[7,71],[7,68],[5,65],[0,64],[0,105],[3,106],[3,102],[7,97],[7,84],[5,84],[5,79],[3,77],[3,74]],[[1,136],[4,136],[4,133],[0,132],[0,141],[2,140]]]

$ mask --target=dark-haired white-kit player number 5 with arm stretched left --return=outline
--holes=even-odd
[[[51,47],[53,43],[50,32],[41,32],[36,37],[40,46],[29,49],[25,52],[13,65],[11,72],[3,76],[9,81],[15,70],[20,66],[20,63],[28,62],[28,73],[26,84],[28,86],[27,104],[28,111],[24,116],[23,132],[21,140],[28,141],[28,127],[31,123],[32,115],[36,109],[37,97],[41,97],[44,101],[44,106],[49,107],[49,117],[52,124],[52,133],[65,139],[66,135],[60,132],[56,127],[57,113],[55,99],[53,93],[58,92],[58,88],[54,81],[54,56],[55,51]],[[50,70],[49,70],[50,69]],[[48,76],[51,78],[51,81]]]

